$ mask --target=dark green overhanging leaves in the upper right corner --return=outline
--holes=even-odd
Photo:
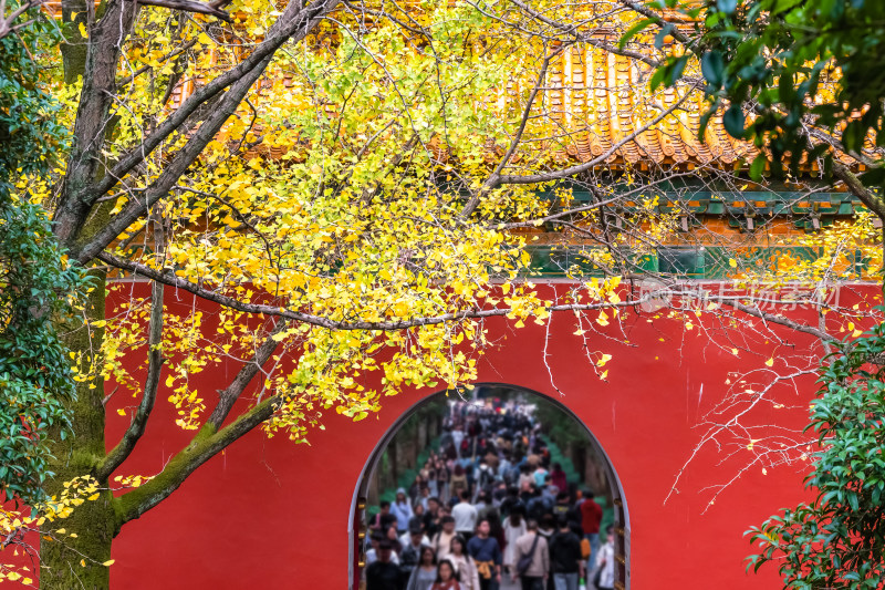
[[[764,146],[774,175],[796,172],[803,158],[822,158],[829,168],[834,149],[857,156],[865,142],[885,146],[885,2],[668,0],[648,6],[676,8],[697,22],[686,49],[700,60],[706,81],[710,111],[704,125],[725,112],[728,133]],[[652,22],[662,32],[669,27],[645,19],[631,34]],[[675,83],[684,68],[679,60],[666,59],[652,85]],[[737,108],[752,115],[746,127]],[[835,141],[810,138],[809,126]],[[885,174],[871,167],[863,179],[879,187]],[[757,166],[757,178],[762,168]]]

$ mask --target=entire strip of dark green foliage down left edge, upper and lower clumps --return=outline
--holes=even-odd
[[[55,39],[54,24],[39,8],[20,17],[29,20],[0,39],[0,501],[41,498],[50,432],[67,432],[72,362],[54,322],[71,313],[82,283],[43,208],[13,186],[48,174],[65,139],[34,61]]]

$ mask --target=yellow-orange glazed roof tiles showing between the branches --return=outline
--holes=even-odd
[[[44,7],[53,15],[60,15],[60,1],[50,1]],[[603,31],[601,39],[616,44],[618,38],[614,31]],[[653,49],[647,49],[650,54]],[[622,143],[601,166],[733,167],[757,155],[751,144],[726,132],[720,115],[710,118],[704,141],[698,138],[700,117],[708,107],[699,91],[671,115],[648,126],[687,92],[685,85],[649,92],[650,73],[644,63],[589,43],[563,51],[551,64],[543,99],[551,123],[548,145],[552,155],[559,161],[586,163]],[[194,81],[186,81],[176,89],[171,95],[173,106],[180,104],[194,85]],[[507,103],[519,92],[510,85],[500,94],[500,102]],[[642,131],[646,126],[648,128]],[[430,147],[438,151],[439,156],[447,155],[441,146]],[[489,147],[493,156],[500,146],[490,144]],[[514,161],[519,159],[518,155]]]

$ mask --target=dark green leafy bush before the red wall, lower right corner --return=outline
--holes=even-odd
[[[777,563],[791,589],[876,589],[885,579],[885,325],[822,369],[805,483],[816,497],[753,527],[749,567]],[[873,361],[871,363],[871,361]]]

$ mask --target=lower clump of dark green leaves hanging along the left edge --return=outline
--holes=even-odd
[[[0,236],[0,499],[32,499],[50,475],[50,429],[67,426],[72,361],[53,320],[70,312],[81,281],[63,261],[41,207],[7,194]]]

